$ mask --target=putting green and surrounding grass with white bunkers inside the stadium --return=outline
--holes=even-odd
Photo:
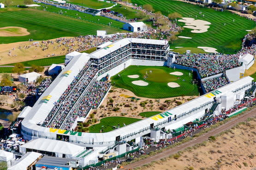
[[[149,70],[152,70],[152,74],[149,74]],[[149,74],[147,80],[143,79],[146,71]],[[174,71],[180,71],[184,75],[174,76],[169,73]],[[128,89],[134,92],[135,95],[149,98],[167,98],[174,96],[194,96],[198,95],[197,85],[191,83],[192,77],[189,76],[188,70],[181,70],[167,67],[155,67],[155,66],[129,66],[119,74],[111,77],[112,85]],[[131,79],[128,75],[138,74],[140,77],[137,79]],[[120,77],[118,76],[120,75]],[[192,74],[191,74],[192,75]],[[180,77],[180,79],[177,79]],[[149,80],[150,79],[150,80]],[[143,80],[149,83],[147,86],[134,85],[131,82],[134,80]],[[184,80],[184,81],[183,81]],[[180,85],[178,88],[171,88],[167,85],[168,82],[176,82]]]

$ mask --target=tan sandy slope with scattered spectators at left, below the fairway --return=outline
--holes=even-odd
[[[0,63],[2,65],[67,54],[69,44],[46,43],[47,41],[52,42],[54,40],[56,39],[0,44]]]

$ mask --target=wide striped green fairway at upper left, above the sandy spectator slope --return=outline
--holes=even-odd
[[[123,23],[105,17],[93,17],[92,15],[78,12],[78,16],[82,19],[76,19],[74,18],[74,12],[76,11],[67,11],[65,13],[67,16],[63,16],[53,13],[54,10],[59,11],[59,8],[50,6],[47,9],[52,12],[32,8],[0,10],[0,27],[17,26],[27,28],[28,32],[30,32],[30,35],[27,36],[0,37],[0,43],[6,44],[29,39],[49,40],[64,36],[96,34],[97,30],[106,30],[107,34],[124,32],[124,30],[120,29]],[[62,9],[62,11],[65,10]],[[107,26],[109,22],[113,23],[112,26]]]

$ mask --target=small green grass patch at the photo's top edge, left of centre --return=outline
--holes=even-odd
[[[93,9],[107,8],[114,5],[113,3],[107,3],[98,0],[67,0],[67,2]]]

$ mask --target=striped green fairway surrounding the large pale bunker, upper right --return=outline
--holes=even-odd
[[[132,3],[138,5],[151,4],[155,11],[161,11],[163,15],[168,16],[169,13],[178,12],[182,17],[193,17],[202,19],[211,23],[208,32],[202,34],[191,33],[192,29],[185,28],[181,34],[177,36],[192,37],[192,39],[179,39],[170,45],[174,49],[175,46],[194,47],[209,46],[214,47],[221,53],[236,53],[241,49],[242,39],[247,34],[246,29],[256,27],[256,23],[244,17],[239,17],[229,11],[214,11],[207,7],[199,7],[192,4],[176,0],[131,0]],[[199,15],[199,12],[205,15]],[[190,16],[191,15],[191,16]],[[235,22],[233,22],[235,19]],[[226,23],[226,26],[224,26]],[[178,22],[180,26],[184,23]]]

